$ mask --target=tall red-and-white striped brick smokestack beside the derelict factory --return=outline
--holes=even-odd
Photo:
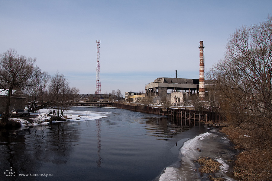
[[[205,97],[205,79],[204,79],[204,46],[203,41],[199,42],[199,99]]]

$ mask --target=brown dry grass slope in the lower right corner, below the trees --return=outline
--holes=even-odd
[[[235,161],[234,175],[243,181],[272,180],[272,141],[261,139],[261,130],[225,127],[222,129],[242,152]],[[245,136],[249,135],[251,137]]]

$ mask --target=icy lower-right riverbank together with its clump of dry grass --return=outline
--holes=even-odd
[[[157,180],[235,181],[232,171],[236,151],[233,146],[225,134],[209,128],[208,132],[185,141],[180,148],[180,161],[167,167]],[[205,161],[200,163],[199,158],[205,158]],[[212,170],[214,165],[217,168]]]

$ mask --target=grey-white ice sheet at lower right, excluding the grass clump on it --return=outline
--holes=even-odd
[[[206,180],[205,174],[200,176],[198,172],[197,163],[193,160],[197,160],[199,157],[210,157],[222,164],[220,171],[212,173],[215,177],[221,177],[228,181],[235,181],[235,179],[229,177],[231,160],[235,155],[234,151],[230,149],[230,141],[222,133],[213,129],[211,132],[206,132],[189,139],[184,142],[180,148],[179,158],[180,162],[167,167],[159,177],[159,181],[200,181]],[[199,148],[201,152],[197,150]],[[210,180],[210,179],[207,179]]]

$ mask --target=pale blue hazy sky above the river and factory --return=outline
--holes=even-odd
[[[159,77],[199,79],[224,57],[228,37],[266,20],[271,0],[0,0],[0,54],[12,48],[80,94],[145,91]]]

